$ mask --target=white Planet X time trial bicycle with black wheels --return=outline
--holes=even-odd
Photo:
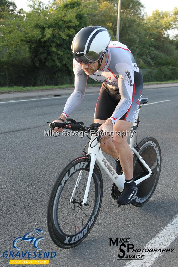
[[[138,191],[132,205],[143,206],[156,189],[161,171],[161,150],[153,137],[144,138],[139,144],[136,140],[136,128],[141,106],[147,103],[142,98],[130,129],[129,146],[134,154],[133,178]],[[47,210],[47,224],[50,237],[60,248],[69,249],[80,244],[92,230],[98,217],[102,195],[103,181],[100,166],[113,181],[111,195],[117,199],[124,188],[125,176],[121,169],[118,174],[106,160],[100,149],[101,132],[96,135],[101,124],[92,123],[84,127],[83,122],[67,118],[67,123],[51,123],[51,129],[62,127],[73,131],[87,132],[90,136],[88,152],[73,159],[60,173],[50,194]],[[94,132],[92,132],[94,131]],[[85,146],[86,147],[86,146]]]

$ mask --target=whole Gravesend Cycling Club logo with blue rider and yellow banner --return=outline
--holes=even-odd
[[[41,242],[39,241],[44,239],[44,237],[41,236],[42,233],[43,233],[43,230],[35,229],[35,230],[27,232],[22,237],[16,237],[12,242],[13,248],[16,249],[16,251],[4,251],[2,253],[2,257],[9,258],[10,259],[9,264],[48,265],[49,260],[46,260],[46,259],[55,258],[56,252],[39,251],[41,250]],[[22,245],[24,246],[25,243],[31,246],[31,249],[30,249],[31,251],[20,251]],[[33,251],[35,249],[36,251]]]

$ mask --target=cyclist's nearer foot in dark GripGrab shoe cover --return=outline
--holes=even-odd
[[[137,194],[137,185],[133,179],[125,180],[124,190],[122,194],[117,199],[117,204],[119,205],[127,205],[129,204],[134,196]]]

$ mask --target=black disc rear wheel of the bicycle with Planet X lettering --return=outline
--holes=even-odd
[[[136,207],[143,206],[154,193],[161,171],[161,149],[157,140],[153,137],[143,139],[138,146],[141,148],[139,151],[140,156],[151,168],[154,175],[150,176],[143,182],[139,183],[136,196],[131,202]],[[133,159],[133,178],[138,180],[145,176],[148,171],[145,169],[141,161],[134,155]]]

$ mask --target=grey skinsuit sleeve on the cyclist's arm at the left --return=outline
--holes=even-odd
[[[88,76],[85,74],[84,70],[82,70],[81,66],[77,64],[75,60],[73,60],[73,70],[74,70],[74,91],[72,95],[69,96],[64,111],[62,115],[68,117],[72,111],[74,111],[78,105],[80,105],[81,101],[85,96],[86,90],[86,82]]]

